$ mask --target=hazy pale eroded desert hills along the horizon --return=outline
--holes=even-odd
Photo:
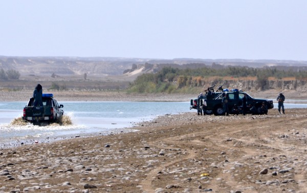
[[[210,66],[221,68],[225,66],[270,67],[279,69],[307,70],[307,61],[291,60],[243,60],[243,59],[141,59],[141,58],[111,58],[111,57],[8,57],[0,56],[0,68],[18,70],[21,76],[59,76],[84,75],[89,76],[122,76],[124,77],[155,73],[164,66],[178,68],[198,68]],[[142,69],[141,69],[142,68]],[[141,69],[141,70],[140,70]],[[138,70],[138,71],[135,71]],[[135,71],[131,74],[132,71]],[[129,74],[130,73],[130,74]]]

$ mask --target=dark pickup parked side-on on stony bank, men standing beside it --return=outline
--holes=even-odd
[[[223,107],[222,107],[222,98],[223,98],[223,93],[228,95],[228,108],[229,112],[231,113],[231,109],[233,106],[236,104],[237,106],[242,106],[242,99],[244,97],[244,94],[247,94],[242,91],[238,91],[237,89],[232,89],[230,92],[217,92],[214,95],[214,98],[210,99],[203,99],[203,106],[202,108],[205,108],[206,114],[209,114],[210,112],[213,113],[214,115],[223,115]],[[246,103],[247,107],[249,105],[254,105],[256,109],[259,109],[262,105],[262,103],[265,102],[266,106],[268,109],[272,109],[274,107],[273,101],[272,100],[267,100],[267,99],[255,99],[252,98],[249,94],[246,96]],[[247,112],[249,113],[249,112]]]

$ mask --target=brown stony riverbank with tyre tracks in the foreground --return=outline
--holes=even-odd
[[[165,115],[139,132],[0,150],[0,192],[306,192],[307,110]]]

